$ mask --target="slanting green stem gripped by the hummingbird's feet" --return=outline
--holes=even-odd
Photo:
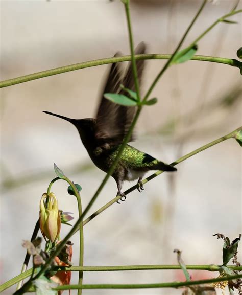
[[[239,130],[242,130],[242,127],[239,127],[236,130],[232,131],[231,133],[225,135],[224,137],[221,137],[219,139],[216,139],[216,140],[214,140],[214,141],[212,141],[212,142],[210,142],[210,143],[208,143],[208,144],[206,144],[206,145],[204,145],[204,146],[202,146],[202,147],[200,147],[200,148],[198,148],[198,149],[196,149],[196,150],[194,150],[194,151],[192,151],[192,152],[190,152],[190,153],[188,153],[188,154],[186,154],[186,155],[184,155],[182,157],[180,157],[177,161],[173,162],[171,165],[172,166],[175,166],[175,165],[177,165],[177,164],[185,161],[189,157],[191,157],[193,155],[196,155],[197,153],[199,153],[199,152],[201,152],[201,151],[203,151],[203,150],[205,150],[207,148],[212,147],[213,145],[216,145],[218,143],[221,143],[221,142],[223,142],[223,141],[225,141],[227,139],[233,138],[234,135],[235,135],[235,133],[237,131],[239,131]],[[163,171],[161,171],[161,170],[155,172],[154,174],[150,175],[146,179],[143,179],[142,180],[142,184],[144,185],[144,184],[148,183],[148,181],[150,181],[151,179],[155,178],[156,176],[158,176],[158,175],[160,175],[162,173],[163,173]],[[135,185],[135,186],[129,188],[127,191],[125,191],[124,194],[127,195],[127,194],[131,193],[132,191],[134,191],[137,188],[138,188],[138,185]],[[101,207],[99,210],[95,211],[93,214],[91,214],[87,219],[85,219],[83,221],[83,225],[85,225],[90,220],[92,220],[94,217],[96,217],[97,215],[99,215],[100,213],[102,213],[104,210],[106,210],[108,207],[110,207],[113,203],[115,203],[119,198],[120,198],[120,196],[117,196],[117,197],[113,198],[108,203],[106,203],[103,207]]]

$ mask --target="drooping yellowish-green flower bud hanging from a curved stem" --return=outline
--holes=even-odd
[[[54,193],[44,193],[40,200],[39,211],[40,230],[44,239],[55,242],[60,233],[61,218],[58,201]]]

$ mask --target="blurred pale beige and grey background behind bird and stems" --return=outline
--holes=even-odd
[[[184,46],[234,3],[209,2]],[[146,42],[148,53],[171,53],[200,5],[201,1],[131,1],[135,44]],[[239,23],[217,25],[199,42],[197,54],[237,58],[241,15],[231,19]],[[117,51],[129,54],[124,7],[118,0],[1,1],[1,80],[107,58]],[[146,62],[142,93],[164,63]],[[108,68],[96,66],[1,89],[1,283],[20,273],[25,257],[21,242],[31,238],[40,197],[56,176],[53,163],[82,186],[83,208],[105,176],[92,164],[75,127],[42,110],[76,119],[95,116]],[[241,125],[241,76],[236,67],[201,61],[173,66],[152,97],[158,103],[142,110],[138,139],[132,145],[167,163]],[[212,235],[222,233],[234,239],[241,233],[240,147],[235,140],[227,140],[177,168],[176,173],[156,177],[141,194],[132,192],[122,205],[115,203],[85,225],[84,265],[177,264],[174,248],[182,251],[186,264],[222,263],[223,241]],[[124,189],[134,184],[126,183]],[[66,184],[57,182],[53,192],[59,208],[73,212],[76,220],[76,199],[67,194]],[[110,178],[88,216],[115,194],[116,184]],[[63,225],[61,235],[68,230]],[[78,265],[78,235],[71,241],[73,264]],[[217,276],[208,271],[190,273],[193,279]],[[72,283],[77,277],[72,274]],[[184,280],[182,272],[84,273],[84,283],[172,280]],[[14,290],[15,286],[4,294]],[[83,291],[138,293],[181,294],[182,290]]]

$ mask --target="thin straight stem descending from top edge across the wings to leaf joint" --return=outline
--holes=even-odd
[[[137,67],[136,67],[135,56],[134,56],[134,42],[133,42],[133,34],[132,34],[132,28],[131,28],[129,0],[124,1],[124,5],[125,5],[127,25],[128,25],[128,31],[129,31],[129,43],[130,43],[130,52],[131,52],[131,62],[132,62],[134,85],[135,85],[135,91],[136,91],[136,94],[137,94],[137,100],[138,100],[138,102],[140,102],[139,81],[138,81],[138,73],[137,73]]]

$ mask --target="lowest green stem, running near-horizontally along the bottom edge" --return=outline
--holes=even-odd
[[[83,289],[144,289],[144,288],[178,288],[185,286],[193,286],[200,284],[211,284],[216,282],[224,282],[228,280],[240,279],[242,274],[234,276],[219,277],[214,279],[206,279],[199,281],[155,283],[155,284],[95,284],[95,285],[65,285],[53,288],[53,290],[76,290]]]

